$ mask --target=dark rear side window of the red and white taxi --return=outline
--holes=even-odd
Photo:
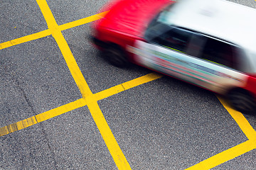
[[[201,53],[203,60],[237,69],[237,50],[228,42],[208,38]]]

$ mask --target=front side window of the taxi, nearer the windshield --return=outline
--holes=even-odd
[[[157,36],[151,42],[157,43],[164,47],[179,52],[186,52],[188,42],[191,40],[193,33],[182,28],[171,28],[170,30]]]

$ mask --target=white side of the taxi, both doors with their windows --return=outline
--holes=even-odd
[[[219,93],[230,86],[244,86],[246,75],[235,70],[235,61],[227,57],[234,53],[227,43],[183,28],[156,30],[148,35],[149,42],[138,40],[130,48],[137,64]]]

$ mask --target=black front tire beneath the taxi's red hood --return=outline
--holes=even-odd
[[[107,45],[105,47],[104,57],[107,62],[116,67],[126,67],[128,64],[127,55],[119,45]]]

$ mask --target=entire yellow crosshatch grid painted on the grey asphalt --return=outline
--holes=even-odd
[[[38,38],[43,38],[48,35],[53,35],[55,38],[58,46],[60,47],[60,51],[65,58],[66,63],[68,64],[68,68],[70,69],[70,73],[73,75],[75,83],[78,85],[80,92],[83,98],[78,99],[77,101],[68,103],[66,105],[60,106],[58,108],[54,108],[50,111],[46,111],[44,113],[35,115],[31,118],[27,118],[26,120],[21,120],[18,123],[13,123],[11,125],[7,125],[3,128],[0,128],[0,136],[7,135],[11,132],[15,132],[17,130],[21,130],[23,128],[27,128],[31,125],[35,125],[36,123],[40,123],[42,121],[48,120],[55,116],[61,115],[63,113],[67,113],[68,111],[73,111],[76,108],[80,108],[83,106],[88,106],[90,113],[92,114],[92,118],[95,120],[97,128],[100,130],[103,140],[107,145],[107,148],[110,150],[110,154],[112,155],[114,162],[117,164],[119,169],[131,169],[129,163],[127,162],[124,154],[122,154],[121,149],[119,148],[117,141],[114,139],[114,135],[112,134],[109,126],[107,125],[107,121],[100,110],[100,107],[97,104],[97,101],[102,100],[103,98],[107,98],[114,94],[118,94],[119,92],[125,91],[127,89],[131,89],[135,86],[139,86],[141,84],[145,84],[149,81],[153,81],[155,79],[159,79],[163,77],[161,74],[151,73],[147,74],[143,77],[139,77],[137,79],[133,79],[131,81],[127,81],[123,84],[119,84],[114,86],[110,89],[106,89],[104,91],[100,91],[97,94],[92,94],[90,91],[89,86],[87,85],[78,64],[76,63],[70,48],[68,47],[68,43],[65,41],[61,30],[66,30],[69,28],[73,28],[75,26],[80,26],[85,23],[90,23],[92,21],[96,21],[97,19],[103,18],[106,12],[98,13],[94,16],[89,16],[87,18],[82,18],[78,21],[73,21],[70,23],[65,23],[61,26],[55,21],[53,14],[48,7],[48,4],[44,0],[37,0],[39,7],[43,13],[43,16],[46,18],[46,23],[48,24],[48,30],[43,30],[39,33],[35,33],[32,35],[27,35],[22,38],[17,38],[15,40],[10,40],[8,42],[3,42],[0,44],[0,50],[6,47],[11,47],[14,45],[21,44],[23,42],[28,42],[31,40],[36,40]],[[245,117],[230,108],[223,99],[219,98],[220,102],[223,104],[225,109],[230,113],[230,115],[234,118],[234,120],[238,123],[239,127],[241,128],[242,132],[245,133],[247,138],[246,142],[241,143],[235,147],[227,149],[219,154],[216,154],[213,157],[210,157],[203,162],[200,162],[194,166],[191,166],[188,169],[210,169],[219,164],[223,164],[223,162],[227,162],[230,159],[240,156],[241,154],[245,154],[252,149],[256,149],[256,132],[245,119]]]

